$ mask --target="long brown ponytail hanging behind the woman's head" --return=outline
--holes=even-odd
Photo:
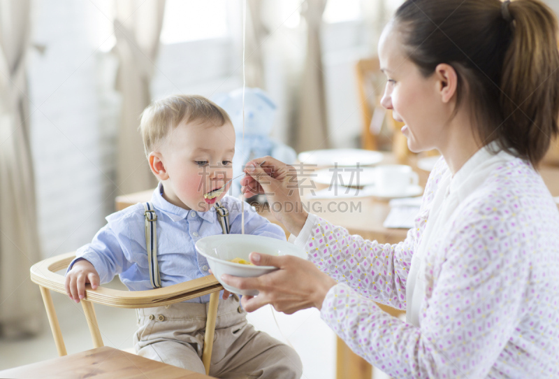
[[[533,0],[509,3],[509,13],[513,33],[502,69],[498,141],[537,166],[558,135],[557,20]]]

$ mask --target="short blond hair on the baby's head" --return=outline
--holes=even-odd
[[[144,109],[140,120],[146,157],[181,122],[207,122],[221,127],[231,120],[225,110],[203,96],[179,94],[154,101]]]

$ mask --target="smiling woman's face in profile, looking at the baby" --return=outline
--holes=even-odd
[[[441,101],[440,82],[435,76],[424,78],[407,58],[402,36],[391,22],[379,41],[381,70],[388,78],[381,105],[392,110],[394,120],[404,122],[402,133],[412,152],[438,148],[444,141],[445,104]]]

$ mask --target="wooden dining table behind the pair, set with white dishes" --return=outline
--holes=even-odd
[[[382,164],[395,163],[395,157],[391,154],[386,154]],[[414,170],[419,174],[419,185],[425,187],[429,173],[416,168],[414,159],[410,162]],[[548,186],[553,196],[559,196],[559,167],[543,167],[540,169],[540,174],[544,178],[544,182]],[[317,188],[319,189],[319,188]],[[149,201],[151,199],[153,190],[144,192],[136,192],[124,196],[118,196],[116,199],[117,210],[124,209],[141,201]],[[319,217],[328,220],[335,225],[340,225],[346,228],[351,234],[359,234],[363,238],[376,240],[379,243],[398,243],[403,241],[407,234],[407,229],[387,229],[382,226],[386,215],[390,211],[388,201],[382,201],[372,198],[358,198],[358,199],[311,199],[310,197],[303,196],[303,201],[310,201],[313,209],[321,209],[318,212],[312,212]],[[337,204],[353,201],[361,203],[361,211],[347,212],[336,211],[331,212],[328,209],[328,204],[331,204],[330,209],[337,209]],[[351,208],[350,208],[351,209]],[[266,217],[270,222],[279,224],[275,217],[270,213],[267,208],[259,208],[259,213]],[[283,227],[282,224],[279,226]],[[285,229],[284,229],[285,230]],[[286,231],[286,234],[289,234]],[[398,317],[405,313],[402,310],[397,310],[389,306],[379,304],[380,308],[385,312]],[[363,358],[352,352],[347,345],[340,338],[337,338],[337,352],[336,352],[336,372],[337,379],[370,379],[372,377],[372,367]]]

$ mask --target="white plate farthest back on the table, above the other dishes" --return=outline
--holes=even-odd
[[[334,166],[349,167],[367,166],[382,162],[382,152],[363,149],[324,149],[301,152],[297,159],[305,164],[316,164],[319,167]]]

